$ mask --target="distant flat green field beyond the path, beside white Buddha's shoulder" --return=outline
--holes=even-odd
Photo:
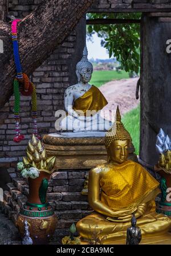
[[[100,87],[103,84],[110,82],[112,80],[119,80],[123,78],[129,78],[129,74],[125,71],[121,71],[121,73],[118,73],[112,70],[99,70],[93,71],[90,83],[96,87]]]

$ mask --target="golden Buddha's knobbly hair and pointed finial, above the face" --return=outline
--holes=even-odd
[[[114,140],[129,140],[129,147],[133,147],[131,135],[121,122],[119,106],[116,109],[115,122],[105,134],[105,147],[108,148]]]

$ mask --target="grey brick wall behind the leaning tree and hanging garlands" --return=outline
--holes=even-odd
[[[9,0],[9,14],[16,18],[23,18],[40,2],[41,0]],[[82,56],[85,38],[86,21],[83,18],[62,46],[58,47],[31,74],[31,80],[35,84],[37,92],[38,131],[42,136],[46,133],[55,132],[55,111],[64,109],[64,91],[69,85],[77,82],[75,66]],[[0,162],[9,162],[9,158],[18,161],[19,157],[25,155],[33,126],[30,100],[31,97],[21,96],[21,130],[22,134],[25,135],[25,140],[19,144],[13,142],[15,134],[14,96],[1,110]],[[10,175],[15,176],[15,174]]]

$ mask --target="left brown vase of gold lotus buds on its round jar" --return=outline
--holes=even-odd
[[[28,178],[29,195],[19,213],[17,227],[23,237],[27,220],[34,244],[48,243],[56,228],[57,218],[46,198],[48,179],[54,171],[54,165],[55,157],[47,158],[44,145],[32,135],[28,141],[26,157],[18,163],[22,177]]]

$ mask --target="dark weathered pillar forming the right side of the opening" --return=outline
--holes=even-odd
[[[171,54],[166,52],[171,22],[158,17],[142,19],[140,158],[156,164],[159,129],[171,136]]]

